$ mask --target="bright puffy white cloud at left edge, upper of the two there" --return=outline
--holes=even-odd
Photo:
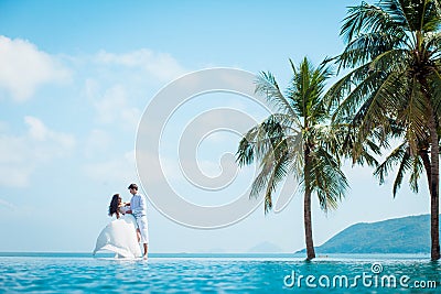
[[[0,35],[0,88],[17,101],[32,97],[35,89],[47,83],[63,83],[71,73],[56,59],[24,40]]]

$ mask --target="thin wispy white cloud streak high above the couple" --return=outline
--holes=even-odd
[[[97,54],[96,62],[131,68],[138,67],[161,81],[170,81],[187,72],[170,54],[153,52],[148,48],[125,54],[101,51]]]

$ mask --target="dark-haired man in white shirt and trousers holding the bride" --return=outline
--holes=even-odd
[[[149,230],[147,227],[147,200],[146,196],[138,193],[138,185],[130,184],[128,187],[130,190],[131,199],[130,199],[130,210],[127,211],[128,214],[132,214],[133,217],[137,219],[138,229],[141,233],[141,242],[144,248],[143,258],[147,259],[147,251],[149,244]]]

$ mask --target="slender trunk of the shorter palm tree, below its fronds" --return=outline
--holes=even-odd
[[[303,199],[303,218],[304,218],[304,238],[306,241],[306,260],[315,258],[314,242],[312,240],[312,220],[311,220],[311,188],[310,188],[310,168],[311,160],[310,151],[306,146],[304,151],[304,199]]]

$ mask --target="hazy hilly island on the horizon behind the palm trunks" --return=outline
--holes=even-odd
[[[430,253],[430,215],[355,224],[315,247],[315,251],[319,254]]]

